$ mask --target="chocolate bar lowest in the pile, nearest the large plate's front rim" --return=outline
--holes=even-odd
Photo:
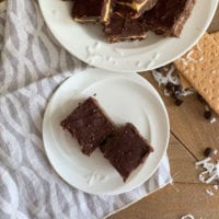
[[[134,41],[146,38],[143,26],[138,19],[130,19],[114,12],[111,22],[104,26],[104,33],[108,43]]]

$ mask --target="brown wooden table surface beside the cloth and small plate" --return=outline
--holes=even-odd
[[[219,31],[219,9],[208,32]],[[169,112],[171,139],[168,150],[174,184],[141,199],[108,219],[180,219],[192,214],[195,219],[219,219],[219,191],[206,193],[212,185],[198,181],[195,161],[204,158],[206,147],[219,150],[219,118],[210,124],[203,116],[204,106],[196,95],[186,96],[180,107],[163,95],[150,73],[141,73],[161,94]]]

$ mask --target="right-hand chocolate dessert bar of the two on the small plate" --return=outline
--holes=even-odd
[[[101,147],[104,157],[122,175],[124,182],[129,174],[153,151],[132,124],[120,127]]]

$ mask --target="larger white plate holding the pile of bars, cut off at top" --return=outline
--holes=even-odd
[[[180,38],[152,33],[142,42],[105,43],[102,27],[72,21],[71,3],[38,0],[44,19],[57,41],[79,59],[112,71],[146,71],[163,66],[187,51],[207,30],[219,0],[197,0]]]

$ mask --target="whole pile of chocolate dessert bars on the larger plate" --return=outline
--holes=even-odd
[[[72,18],[78,22],[103,23],[108,43],[143,39],[149,30],[164,36],[180,36],[195,1],[74,0]]]

